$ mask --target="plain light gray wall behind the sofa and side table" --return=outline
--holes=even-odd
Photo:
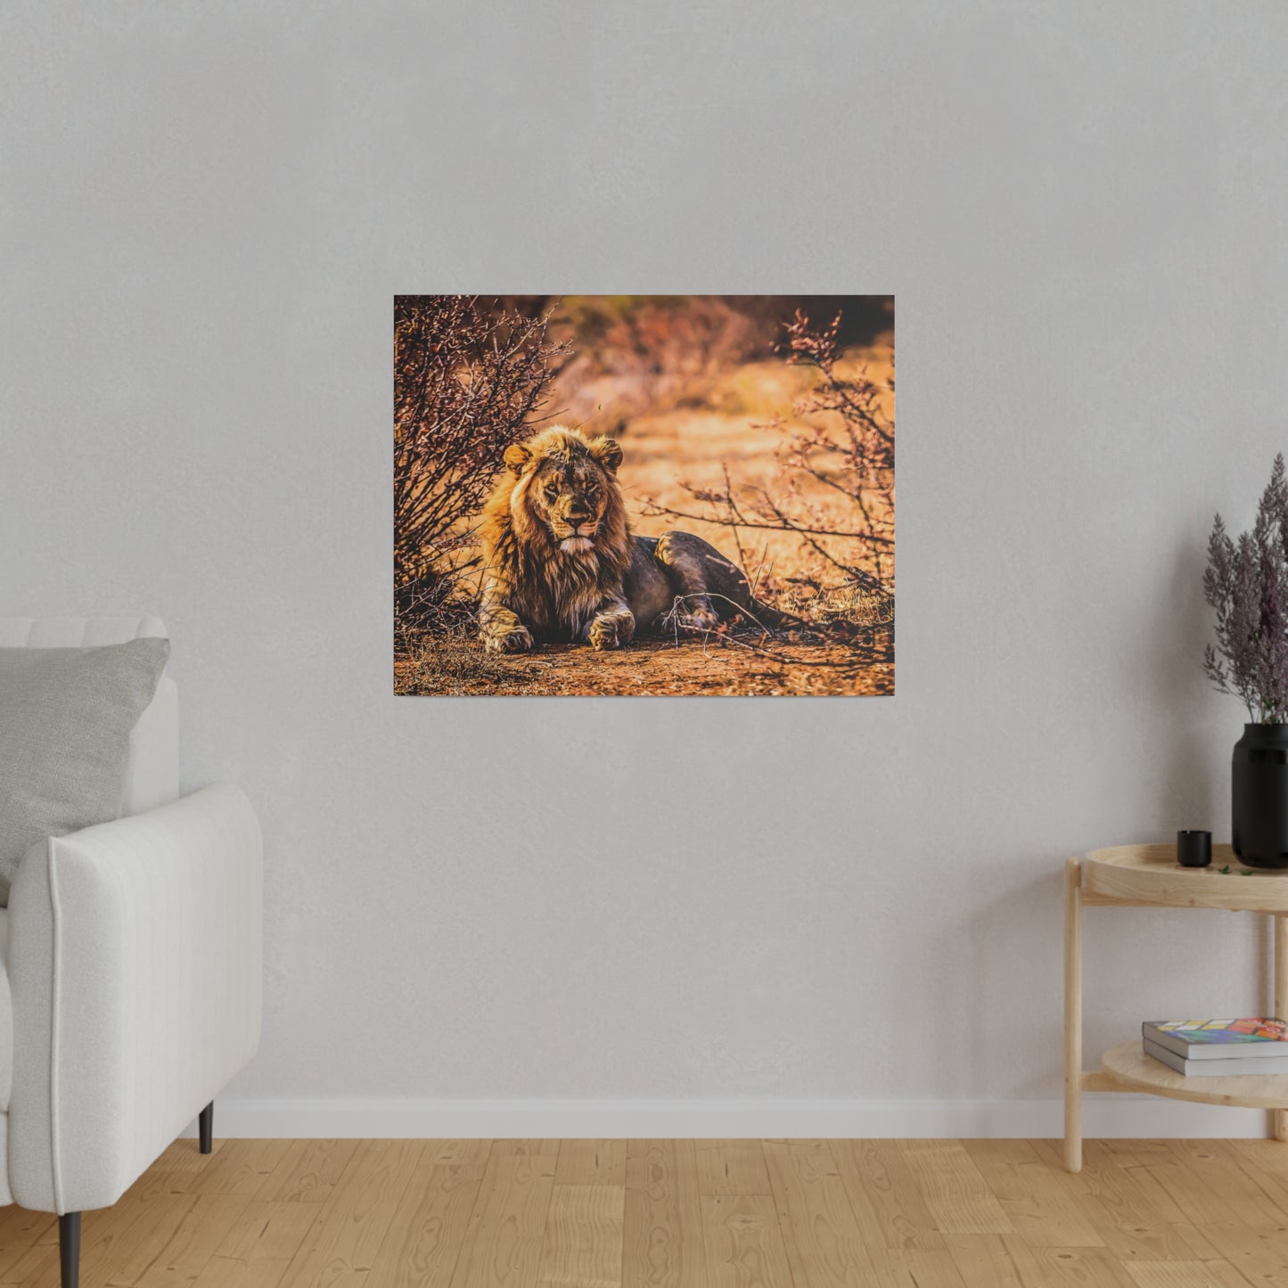
[[[148,611],[366,1096],[1046,1096],[1061,859],[1227,832],[1212,511],[1288,447],[1278,3],[0,15],[0,608]],[[898,697],[395,699],[395,291],[894,291]],[[1087,1045],[1264,1001],[1101,913]]]

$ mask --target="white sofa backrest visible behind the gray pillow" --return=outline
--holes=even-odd
[[[93,648],[166,635],[158,617],[0,617],[0,648]],[[121,813],[139,814],[179,795],[179,690],[161,676],[130,734]]]

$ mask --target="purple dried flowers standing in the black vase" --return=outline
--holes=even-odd
[[[1216,516],[1203,595],[1216,609],[1216,648],[1203,670],[1240,697],[1260,724],[1288,723],[1288,477],[1275,457],[1257,520],[1238,542]]]

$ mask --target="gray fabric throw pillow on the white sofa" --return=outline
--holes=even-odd
[[[121,813],[130,732],[170,641],[0,648],[0,904],[26,850]]]

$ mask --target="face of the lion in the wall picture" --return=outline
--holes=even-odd
[[[586,554],[595,549],[601,533],[621,459],[622,451],[613,439],[587,442],[567,430],[515,444],[505,453],[506,464],[519,479],[511,493],[511,510],[522,509],[544,527],[556,550]]]

